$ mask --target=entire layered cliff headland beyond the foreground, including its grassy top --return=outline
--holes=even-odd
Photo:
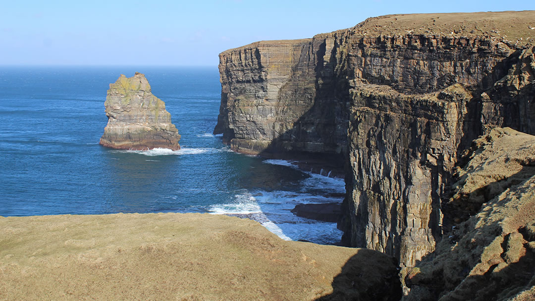
[[[345,162],[343,240],[414,266],[455,220],[442,202],[472,140],[535,134],[533,20],[400,14],[227,50],[215,133],[244,153]]]

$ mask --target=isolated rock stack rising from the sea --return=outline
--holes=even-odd
[[[108,125],[101,145],[127,150],[180,149],[180,135],[171,123],[171,114],[165,103],[152,95],[145,75],[136,72],[127,78],[121,74],[110,84],[104,106]]]

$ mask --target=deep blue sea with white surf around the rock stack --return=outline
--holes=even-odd
[[[181,150],[98,144],[109,84],[135,72],[165,102]],[[231,151],[212,134],[220,91],[217,67],[0,67],[0,216],[229,214],[285,240],[339,242],[336,223],[290,210],[341,202],[343,179]]]

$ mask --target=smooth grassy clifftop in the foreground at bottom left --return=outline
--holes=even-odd
[[[0,217],[0,300],[397,300],[392,257],[209,214]],[[365,264],[364,264],[365,263]]]

